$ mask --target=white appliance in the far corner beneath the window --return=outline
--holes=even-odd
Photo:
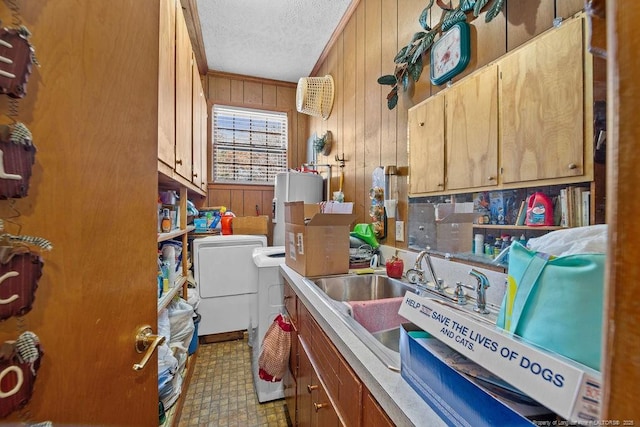
[[[202,316],[198,335],[248,330],[249,343],[258,319],[258,267],[253,250],[265,236],[208,236],[193,240],[193,272]]]

